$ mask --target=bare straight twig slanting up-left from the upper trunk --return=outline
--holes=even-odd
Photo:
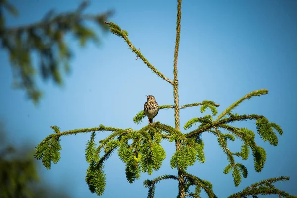
[[[172,84],[172,81],[169,78],[165,77],[160,71],[158,71],[154,66],[152,66],[152,64],[150,64],[148,62],[148,60],[141,54],[140,50],[137,50],[137,48],[134,47],[134,45],[132,44],[132,42],[128,38],[128,32],[126,30],[122,30],[120,28],[120,26],[116,25],[113,22],[109,23],[109,22],[105,21],[104,23],[108,24],[108,26],[110,27],[110,32],[112,32],[113,34],[115,34],[115,35],[117,35],[119,37],[122,37],[125,40],[125,42],[129,46],[129,48],[137,55],[137,57],[142,59],[142,61],[148,66],[148,68],[150,68],[159,77],[161,77],[165,81]]]

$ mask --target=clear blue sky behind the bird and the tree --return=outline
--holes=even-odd
[[[36,22],[54,8],[56,12],[75,9],[80,0],[11,0],[18,8],[18,18],[7,17],[9,26]],[[110,18],[129,33],[136,48],[166,77],[173,79],[173,55],[176,29],[176,1],[172,0],[91,0],[85,13],[101,13],[114,9]],[[256,142],[266,149],[267,161],[261,173],[253,168],[252,156],[237,162],[247,166],[248,177],[235,187],[232,175],[223,174],[228,164],[211,134],[203,134],[206,163],[196,162],[188,172],[213,184],[219,198],[238,192],[261,179],[289,176],[277,187],[297,195],[297,1],[295,0],[184,0],[182,2],[181,39],[178,57],[180,104],[212,100],[220,104],[218,112],[247,93],[268,89],[268,95],[243,102],[233,113],[260,114],[279,124],[284,131],[277,147]],[[100,29],[97,31],[101,32]],[[6,51],[0,50],[0,120],[5,123],[8,138],[15,145],[31,143],[32,148],[53,133],[98,127],[100,124],[139,129],[133,117],[143,109],[145,95],[154,95],[159,105],[173,104],[169,83],[158,78],[136,57],[127,44],[110,33],[103,34],[98,47],[89,43],[80,48],[70,39],[75,57],[71,73],[59,88],[51,81],[37,78],[44,97],[38,106],[26,99],[23,90],[12,89],[12,72]],[[206,114],[210,114],[209,110]],[[181,110],[180,125],[193,117],[203,116],[199,107]],[[174,126],[173,109],[161,110],[157,121]],[[255,121],[234,126],[256,131]],[[182,130],[185,132],[184,130]],[[100,132],[97,141],[110,132]],[[46,170],[38,161],[42,177],[57,190],[63,189],[72,198],[95,198],[85,183],[88,163],[85,145],[89,134],[61,138],[61,160]],[[231,151],[239,151],[241,142],[229,143]],[[129,184],[125,165],[117,153],[105,164],[107,185],[103,198],[146,197],[143,181],[162,174],[177,174],[169,161],[175,151],[173,143],[162,142],[166,159],[152,176]],[[161,181],[156,198],[175,197],[176,181]],[[205,193],[201,194],[205,197]],[[275,196],[274,196],[275,197]]]

